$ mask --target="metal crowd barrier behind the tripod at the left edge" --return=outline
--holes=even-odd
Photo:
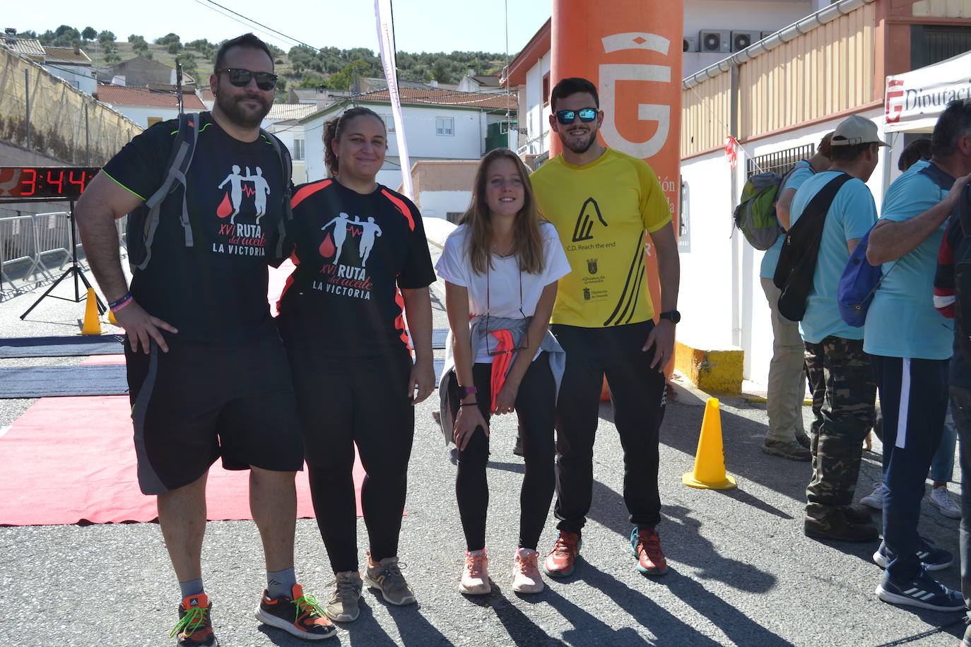
[[[127,256],[128,216],[115,221],[121,258]],[[79,257],[84,249],[77,239]],[[67,211],[0,218],[0,296],[26,292],[54,280],[71,260],[71,218]],[[58,265],[54,268],[53,263]],[[15,279],[16,278],[16,279]]]

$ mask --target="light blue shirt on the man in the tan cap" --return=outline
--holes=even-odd
[[[823,171],[803,182],[789,210],[792,224],[796,223],[822,187],[839,175],[836,171]],[[806,314],[799,322],[803,340],[820,343],[830,336],[844,340],[863,339],[863,329],[854,328],[840,316],[837,293],[840,277],[850,262],[847,241],[863,238],[876,221],[877,204],[866,183],[853,178],[840,187],[826,211],[826,222],[822,225],[813,289],[806,299]]]

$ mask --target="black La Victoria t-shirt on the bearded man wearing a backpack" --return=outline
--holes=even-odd
[[[178,120],[155,124],[124,146],[104,173],[148,199],[164,179],[178,128]],[[132,278],[132,296],[184,340],[234,343],[271,331],[264,243],[283,211],[279,155],[262,137],[240,142],[201,113],[185,175],[193,245],[185,245],[183,191],[177,188],[162,206],[151,261]]]

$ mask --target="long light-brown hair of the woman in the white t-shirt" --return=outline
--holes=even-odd
[[[472,261],[472,270],[479,275],[492,267],[492,220],[485,201],[486,173],[489,165],[499,159],[511,159],[522,180],[522,209],[516,214],[513,224],[512,253],[519,258],[519,271],[536,275],[543,271],[543,237],[540,234],[542,219],[536,208],[536,197],[529,182],[529,169],[519,159],[519,155],[509,148],[494,148],[485,153],[476,171],[472,187],[472,204],[462,214],[458,224],[468,225],[469,238],[466,253]]]

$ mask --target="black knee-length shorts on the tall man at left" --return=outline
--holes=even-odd
[[[224,469],[303,469],[284,344],[275,332],[242,343],[167,338],[169,352],[125,343],[138,481],[159,495]]]

